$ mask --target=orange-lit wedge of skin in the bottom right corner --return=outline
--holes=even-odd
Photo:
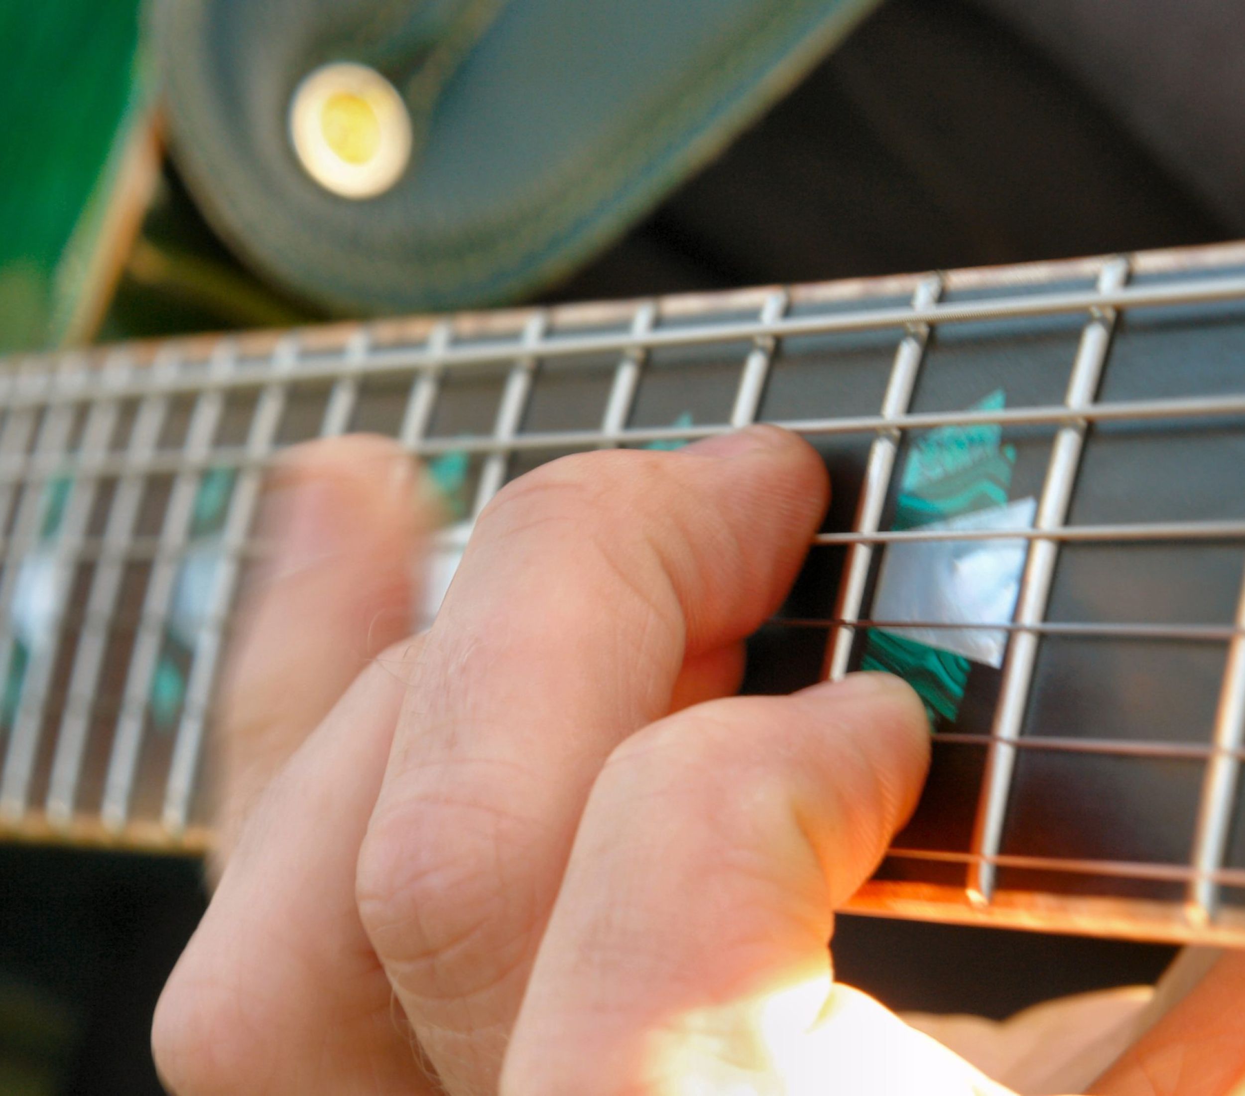
[[[1089,1090],[1101,1096],[1245,1092],[1245,953],[1229,952]]]

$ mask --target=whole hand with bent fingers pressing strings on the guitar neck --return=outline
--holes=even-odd
[[[405,458],[317,443],[278,482],[222,702],[224,871],[156,1016],[176,1092],[1002,1091],[830,989],[920,705],[872,675],[723,699],[824,508],[807,446],[547,466],[410,640]]]

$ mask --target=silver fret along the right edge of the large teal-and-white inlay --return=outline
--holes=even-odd
[[[1120,289],[1128,278],[1128,260],[1107,263],[1098,275],[1098,290],[1104,296]],[[1068,409],[1078,411],[1089,406],[1098,394],[1116,314],[1101,309],[1081,334],[1081,345],[1068,379],[1064,399]],[[1086,422],[1062,426],[1051,446],[1046,483],[1038,502],[1033,527],[1050,533],[1063,527],[1072,503],[1072,489],[1081,466],[1084,448]],[[1041,537],[1030,544],[1028,558],[1021,577],[1020,597],[1015,619],[1020,624],[1036,624],[1046,616],[1046,607],[1055,577],[1055,564],[1059,553],[1059,539]],[[1020,737],[1025,724],[1025,711],[1033,685],[1037,665],[1038,635],[1035,631],[1017,631],[1012,635],[1003,661],[1002,683],[995,702],[991,735],[997,741],[986,755],[982,775],[981,798],[974,824],[972,848],[981,853],[969,871],[969,898],[987,904],[994,894],[995,863],[990,859],[1000,852],[1007,805],[1011,798],[1012,778],[1016,770],[1016,751],[1011,742]]]

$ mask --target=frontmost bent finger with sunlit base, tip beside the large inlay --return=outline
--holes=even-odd
[[[915,806],[928,740],[915,694],[867,674],[701,705],[619,746],[580,822],[502,1094],[680,1092],[685,1040],[763,1071],[735,1006],[828,976],[833,910]]]

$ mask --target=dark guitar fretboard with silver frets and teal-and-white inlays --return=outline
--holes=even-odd
[[[428,462],[454,514],[431,614],[515,476],[767,421],[834,502],[749,684],[896,650],[946,679],[928,792],[855,907],[1245,943],[1243,245],[103,347],[10,362],[0,409],[0,834],[210,842],[213,686],[280,450],[372,431]],[[1031,517],[913,521],[931,453],[942,517],[981,491]],[[878,612],[888,567],[974,542],[1017,560],[1006,619]],[[954,654],[982,643],[1006,654]]]

